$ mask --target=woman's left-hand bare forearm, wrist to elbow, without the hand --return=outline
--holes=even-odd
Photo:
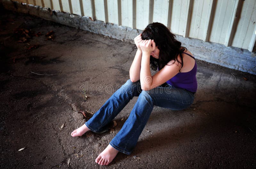
[[[138,49],[129,71],[130,79],[132,82],[136,82],[140,80],[141,56],[142,56],[142,51]]]

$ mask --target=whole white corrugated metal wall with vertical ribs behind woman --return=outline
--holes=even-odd
[[[252,51],[256,0],[19,0],[143,30],[161,22],[184,37]]]

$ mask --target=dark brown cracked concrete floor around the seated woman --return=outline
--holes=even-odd
[[[25,14],[2,11],[0,18],[1,168],[255,168],[254,75],[197,60],[193,105],[154,107],[132,154],[100,166],[94,159],[137,98],[116,117],[115,133],[70,134],[86,120],[77,111],[96,112],[129,79],[135,45]],[[15,28],[42,35],[20,43]],[[49,31],[53,41],[45,40]]]

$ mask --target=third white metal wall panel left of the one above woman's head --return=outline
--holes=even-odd
[[[118,4],[117,0],[107,0],[108,22],[118,25]]]

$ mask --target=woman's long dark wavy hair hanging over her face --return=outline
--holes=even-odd
[[[175,34],[171,33],[168,27],[159,22],[148,24],[148,26],[143,30],[141,36],[142,40],[154,39],[156,46],[160,50],[159,59],[150,56],[150,65],[152,70],[157,70],[158,67],[159,70],[161,70],[172,60],[178,61],[181,64],[181,68],[183,67],[182,52],[187,48],[182,47],[181,42],[176,40],[175,37]],[[181,62],[178,60],[178,55],[180,55]]]

